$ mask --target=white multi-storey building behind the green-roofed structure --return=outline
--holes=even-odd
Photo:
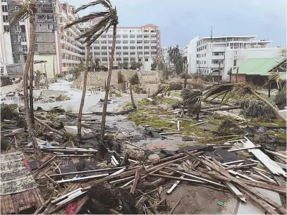
[[[279,58],[281,47],[270,48],[271,41],[255,39],[257,36],[195,37],[185,47],[190,73],[218,76],[228,80],[228,70],[235,70],[252,58]]]

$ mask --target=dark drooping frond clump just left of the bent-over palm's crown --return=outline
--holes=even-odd
[[[183,106],[188,109],[188,113],[194,114],[200,112],[202,102],[201,90],[183,89],[181,97],[183,98]]]

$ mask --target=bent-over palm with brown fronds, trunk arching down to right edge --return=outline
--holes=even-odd
[[[204,92],[204,100],[214,95],[214,99],[216,97],[219,97],[219,95],[224,95],[222,102],[226,102],[231,97],[244,97],[246,94],[252,94],[258,100],[267,104],[267,106],[269,106],[269,109],[273,111],[276,118],[281,119],[284,123],[286,123],[286,118],[281,116],[276,106],[272,105],[270,102],[267,101],[267,99],[264,99],[259,94],[257,94],[257,92],[252,90],[252,87],[247,83],[227,83],[220,85],[212,85],[212,87],[210,87],[207,92]]]

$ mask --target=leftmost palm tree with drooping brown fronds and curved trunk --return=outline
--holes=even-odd
[[[32,138],[32,146],[34,148],[35,154],[38,157],[42,156],[42,152],[39,149],[39,146],[37,145],[37,140],[35,138],[34,129],[32,126],[31,121],[31,113],[33,112],[33,107],[30,106],[32,109],[30,112],[29,108],[29,97],[28,97],[28,75],[29,75],[29,68],[33,68],[34,63],[34,52],[35,52],[35,13],[37,13],[37,0],[28,0],[23,4],[23,6],[14,13],[13,17],[9,19],[10,27],[15,25],[19,22],[19,20],[27,19],[29,18],[30,21],[30,42],[29,42],[29,51],[28,51],[28,57],[25,64],[25,71],[24,71],[24,78],[23,78],[23,85],[24,85],[24,104],[25,104],[25,118],[27,123],[27,128],[30,133],[30,136]],[[30,77],[33,75],[33,72],[30,72]],[[31,82],[31,78],[30,78]],[[30,85],[30,94],[32,96],[32,85]],[[30,99],[31,100],[31,99]],[[31,103],[32,104],[32,103]]]

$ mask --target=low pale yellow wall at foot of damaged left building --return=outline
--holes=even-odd
[[[35,55],[34,61],[47,61],[46,70],[47,70],[48,78],[54,78],[54,68],[55,68],[55,74],[58,74],[56,55]],[[54,66],[53,66],[53,61],[54,61]],[[44,63],[42,63],[42,70],[41,70],[41,63],[34,64],[34,70],[43,71],[43,73],[45,73]]]

